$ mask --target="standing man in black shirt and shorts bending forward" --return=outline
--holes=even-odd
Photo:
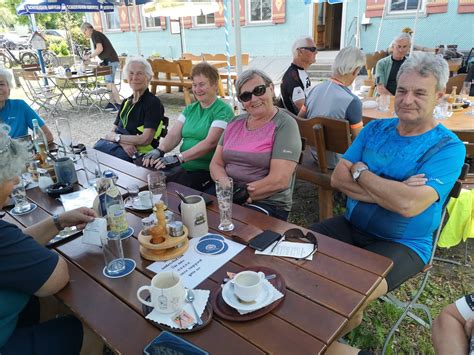
[[[120,65],[117,52],[109,39],[102,32],[94,30],[94,27],[92,27],[90,23],[84,22],[81,25],[81,31],[86,38],[92,39],[92,43],[94,44],[94,50],[90,55],[84,56],[84,61],[99,57],[100,60],[102,60],[101,65],[112,67],[112,75],[105,76],[107,89],[109,89],[109,103],[105,107],[105,110],[117,113],[120,106],[120,94],[115,86],[115,73]]]

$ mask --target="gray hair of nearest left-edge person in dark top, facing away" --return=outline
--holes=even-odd
[[[0,124],[0,183],[21,175],[29,159],[26,142],[11,139],[10,129]]]

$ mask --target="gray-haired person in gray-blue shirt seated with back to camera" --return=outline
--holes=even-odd
[[[356,47],[346,47],[339,51],[332,65],[329,80],[315,86],[306,99],[306,117],[330,117],[349,121],[352,139],[364,126],[362,122],[362,102],[348,88],[359,75],[365,64],[364,53]],[[327,152],[328,166],[334,169],[338,154]]]

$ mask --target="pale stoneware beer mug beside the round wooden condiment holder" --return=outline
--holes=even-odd
[[[191,238],[202,237],[209,232],[206,203],[202,196],[186,196],[188,203],[181,202],[181,217]]]

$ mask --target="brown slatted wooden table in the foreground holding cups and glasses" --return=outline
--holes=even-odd
[[[138,183],[141,189],[146,188],[149,170],[101,152],[97,155],[102,165],[117,173],[119,187]],[[81,164],[77,164],[76,168],[79,183],[84,184]],[[180,200],[175,191],[186,195],[196,192],[175,183],[169,183],[167,189],[168,208],[176,215],[179,215]],[[27,227],[63,210],[60,202],[38,188],[28,190],[27,196],[39,208],[24,216],[10,215],[9,209],[5,209],[5,220]],[[234,231],[219,232],[217,201],[213,196],[210,198],[213,200],[207,209],[210,231],[228,238],[236,236],[236,240],[248,241],[264,229],[283,233],[296,227],[234,205]],[[136,297],[137,289],[149,284],[154,276],[146,269],[150,262],[142,259],[139,253],[137,235],[144,216],[127,212],[128,222],[135,233],[123,241],[123,249],[125,257],[136,261],[137,268],[124,278],[104,277],[100,248],[83,244],[80,238],[54,247],[67,260],[71,275],[71,281],[57,297],[120,354],[141,354],[145,345],[160,333],[144,318],[142,305]],[[215,292],[227,271],[238,272],[251,266],[278,270],[286,282],[287,292],[283,302],[269,314],[247,322],[231,322],[214,316],[204,329],[179,335],[211,354],[294,355],[324,352],[339,338],[348,320],[388,273],[392,261],[320,234],[317,238],[319,249],[312,261],[256,256],[247,247],[198,286]]]

